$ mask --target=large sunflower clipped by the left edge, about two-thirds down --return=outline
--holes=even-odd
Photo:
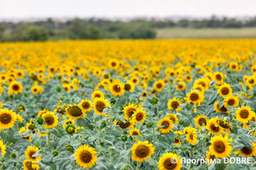
[[[15,112],[9,111],[8,109],[0,110],[0,130],[14,127],[16,120],[17,116]]]

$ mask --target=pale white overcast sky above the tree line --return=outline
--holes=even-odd
[[[0,0],[0,19],[253,16],[256,0]]]

